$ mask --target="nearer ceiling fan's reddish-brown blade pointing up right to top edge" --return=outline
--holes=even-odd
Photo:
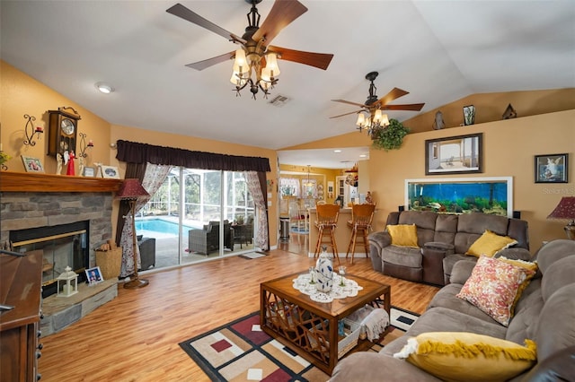
[[[271,7],[270,14],[261,23],[260,29],[253,33],[252,39],[259,41],[265,37],[266,45],[270,44],[271,40],[278,36],[280,30],[305,12],[307,8],[297,0],[276,0]]]

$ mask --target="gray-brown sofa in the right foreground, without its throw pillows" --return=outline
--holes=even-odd
[[[517,251],[503,252],[507,257],[517,254]],[[330,381],[439,381],[410,362],[393,357],[408,338],[429,332],[485,334],[519,344],[530,339],[537,346],[535,366],[509,380],[575,380],[575,240],[553,240],[535,254],[535,259],[539,271],[517,301],[509,326],[500,325],[479,308],[456,297],[476,264],[459,261],[453,267],[451,283],[438,291],[406,334],[379,353],[349,355],[337,364]],[[465,380],[464,375],[461,380]]]

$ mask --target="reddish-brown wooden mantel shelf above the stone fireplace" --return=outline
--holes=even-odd
[[[68,177],[31,172],[0,172],[2,192],[116,192],[122,179]]]

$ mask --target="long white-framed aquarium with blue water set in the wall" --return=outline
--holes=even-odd
[[[405,180],[405,209],[436,213],[513,215],[513,178]]]

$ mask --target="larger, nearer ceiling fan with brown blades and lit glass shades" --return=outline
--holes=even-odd
[[[234,58],[234,73],[230,82],[235,85],[236,95],[240,95],[240,91],[249,84],[254,99],[258,89],[261,89],[264,96],[267,96],[269,94],[268,90],[278,82],[279,67],[276,61],[277,58],[318,67],[323,70],[327,69],[332,61],[333,55],[331,54],[304,52],[270,45],[271,40],[279,34],[279,31],[307,12],[304,4],[299,3],[297,0],[276,0],[271,7],[270,14],[260,26],[261,15],[258,13],[256,4],[260,4],[261,0],[245,0],[245,2],[252,4],[252,9],[250,13],[247,13],[248,26],[245,28],[245,33],[243,33],[242,37],[217,26],[213,22],[209,22],[182,4],[175,4],[166,10],[168,13],[211,30],[241,46],[241,48],[221,56],[215,56],[186,66],[196,70],[203,70],[211,65]],[[252,80],[252,72],[255,75],[254,80]]]

